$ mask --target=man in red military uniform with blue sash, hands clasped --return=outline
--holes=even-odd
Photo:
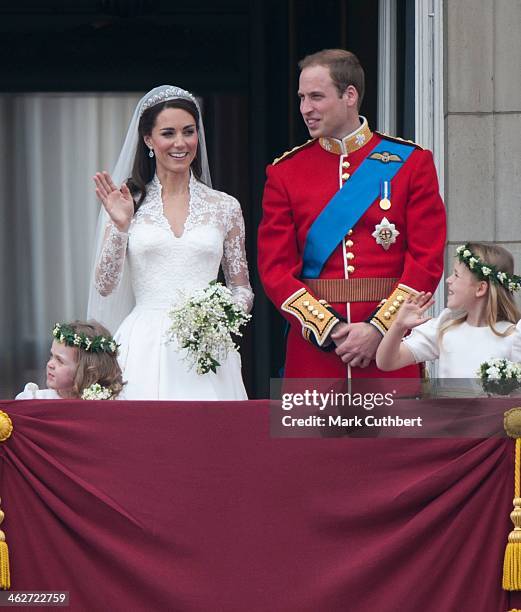
[[[286,377],[411,377],[374,362],[407,296],[443,272],[445,208],[432,154],[371,131],[364,72],[349,51],[300,63],[311,140],[268,166],[259,272],[290,323]]]

